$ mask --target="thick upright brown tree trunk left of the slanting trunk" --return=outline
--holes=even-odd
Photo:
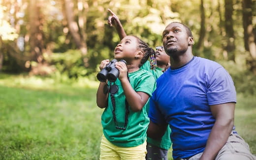
[[[43,60],[43,34],[40,3],[36,0],[30,0],[30,47],[32,60],[41,63]]]

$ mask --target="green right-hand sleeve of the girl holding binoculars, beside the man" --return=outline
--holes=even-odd
[[[141,79],[138,81],[138,85],[134,88],[136,92],[145,92],[150,97],[152,96],[152,93],[154,92],[155,89],[156,80],[154,76],[149,72],[147,72],[141,77]]]

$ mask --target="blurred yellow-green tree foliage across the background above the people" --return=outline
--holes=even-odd
[[[0,27],[6,26],[7,23],[9,27],[4,27],[4,29],[11,29],[12,31],[3,30],[4,33],[15,33],[15,35],[18,34],[19,37],[24,38],[25,48],[24,51],[19,51],[16,47],[16,40],[5,41],[2,45],[0,44],[0,53],[4,55],[2,68],[4,72],[27,72],[29,69],[24,67],[25,62],[27,60],[35,61],[35,59],[27,59],[24,62],[19,62],[23,60],[20,56],[33,57],[31,56],[29,40],[36,34],[30,35],[30,25],[33,24],[30,22],[30,2],[29,0],[22,0],[17,3],[15,0],[1,2],[0,13],[9,16],[0,16]],[[192,29],[195,41],[193,53],[195,55],[219,61],[226,60],[226,57],[231,54],[224,52],[227,37],[224,29],[224,0],[204,0],[206,31],[200,49],[197,49],[201,28],[199,0],[73,0],[72,2],[74,4],[72,14],[78,26],[76,33],[86,42],[88,48],[87,54],[83,57],[80,55],[71,34],[65,15],[64,1],[43,0],[38,2],[40,3],[38,6],[41,6],[38,18],[42,23],[42,26],[39,27],[39,31],[43,33],[41,37],[43,39],[42,46],[44,46],[42,52],[53,52],[53,56],[46,59],[46,62],[53,66],[56,65],[55,77],[58,79],[61,77],[73,79],[84,76],[93,78],[98,71],[101,60],[113,59],[114,48],[120,39],[115,28],[107,25],[107,18],[110,16],[107,8],[116,13],[127,34],[140,37],[150,47],[162,45],[162,30],[170,22],[175,21],[182,22]],[[235,1],[233,8],[233,20],[235,20],[233,24],[233,28],[235,28],[234,54],[235,58],[239,59],[245,53],[242,1]],[[252,18],[255,27],[255,14]],[[3,21],[6,22],[5,25],[3,25]],[[14,32],[13,27],[18,28],[17,32]],[[40,37],[33,38],[40,39]],[[6,44],[12,45],[7,48],[4,47],[8,46]],[[16,49],[13,50],[12,48],[15,47]],[[13,54],[20,56],[16,57]],[[248,55],[246,58],[250,59],[251,57]],[[254,63],[252,60],[247,61],[243,67],[249,65],[248,68],[250,68]]]

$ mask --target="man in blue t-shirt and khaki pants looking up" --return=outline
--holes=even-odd
[[[148,136],[160,138],[169,124],[174,160],[255,160],[232,130],[236,91],[227,71],[193,56],[189,27],[171,23],[162,38],[171,67],[150,98]]]

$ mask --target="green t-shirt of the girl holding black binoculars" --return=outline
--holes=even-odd
[[[143,69],[128,74],[130,84],[136,92],[145,92],[152,96],[156,89],[156,80],[154,76]],[[115,84],[119,90],[114,95],[116,102],[116,121],[117,126],[125,126],[125,93],[121,81],[117,79]],[[113,85],[113,83],[112,83]],[[147,102],[149,103],[149,101]],[[108,107],[106,107],[101,115],[101,124],[105,137],[114,145],[120,147],[135,147],[141,145],[146,140],[146,132],[149,125],[149,118],[146,111],[146,105],[138,112],[133,112],[129,107],[128,125],[126,130],[116,129],[113,118],[113,106],[110,94],[108,96]]]

